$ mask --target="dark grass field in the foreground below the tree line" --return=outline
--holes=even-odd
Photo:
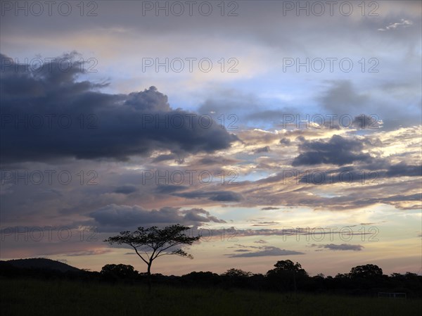
[[[1,315],[420,315],[422,299],[1,279]]]

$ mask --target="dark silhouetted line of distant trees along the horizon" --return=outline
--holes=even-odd
[[[213,272],[190,272],[179,276],[140,273],[132,265],[105,265],[101,272],[80,270],[79,272],[60,272],[51,269],[25,269],[7,262],[0,262],[0,277],[41,277],[43,279],[77,279],[84,282],[106,282],[108,284],[167,284],[173,286],[221,287],[224,289],[252,289],[259,291],[344,293],[347,295],[376,296],[378,292],[403,292],[407,297],[422,295],[422,276],[405,274],[383,274],[377,265],[352,267],[347,274],[325,277],[318,274],[309,277],[300,263],[280,260],[266,274],[245,272],[231,268],[223,274]]]

